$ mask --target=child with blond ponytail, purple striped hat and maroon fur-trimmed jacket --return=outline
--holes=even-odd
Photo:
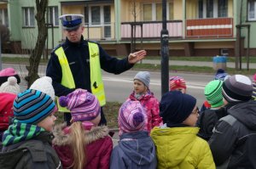
[[[57,125],[54,129],[54,149],[63,167],[108,169],[113,142],[108,127],[98,127],[101,120],[98,99],[84,89],[76,89],[59,101],[72,115],[71,126]]]

